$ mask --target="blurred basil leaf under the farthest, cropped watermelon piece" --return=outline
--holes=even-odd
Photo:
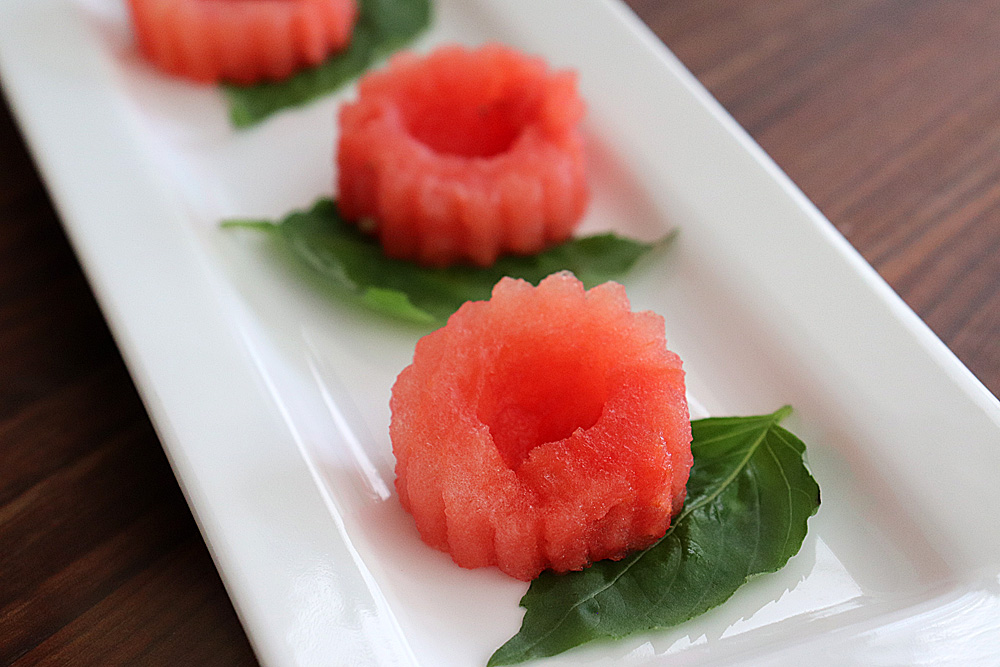
[[[249,127],[271,114],[334,92],[419,35],[431,21],[430,0],[358,0],[358,20],[348,47],[283,81],[224,84],[229,118]]]

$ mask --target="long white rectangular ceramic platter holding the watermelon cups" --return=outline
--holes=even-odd
[[[546,664],[997,664],[996,399],[623,6],[437,0],[417,48],[487,40],[578,69],[584,230],[682,230],[634,305],[708,413],[792,403],[823,490],[783,571]],[[215,89],[142,62],[118,0],[3,0],[0,76],[261,661],[484,665],[525,585],[424,546],[392,492],[389,389],[422,331],[218,228],[331,193],[352,91],[233,131]]]

